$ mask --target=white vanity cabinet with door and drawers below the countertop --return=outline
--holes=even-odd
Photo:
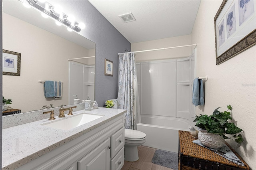
[[[124,120],[120,115],[18,170],[120,170],[123,165]]]

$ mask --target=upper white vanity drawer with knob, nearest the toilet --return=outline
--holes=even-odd
[[[124,146],[124,127],[111,136],[111,159]]]

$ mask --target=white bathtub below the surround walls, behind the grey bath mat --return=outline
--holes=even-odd
[[[189,121],[160,116],[141,115],[137,130],[146,134],[143,146],[178,153],[178,130],[189,131]]]

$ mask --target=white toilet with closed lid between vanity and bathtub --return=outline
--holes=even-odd
[[[138,130],[124,130],[124,160],[134,162],[139,159],[137,146],[146,142],[146,134]]]

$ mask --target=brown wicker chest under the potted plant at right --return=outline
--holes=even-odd
[[[179,130],[179,170],[249,170],[244,160],[228,146],[245,166],[237,165],[226,158],[194,144],[190,132]],[[227,144],[228,145],[228,144]]]

